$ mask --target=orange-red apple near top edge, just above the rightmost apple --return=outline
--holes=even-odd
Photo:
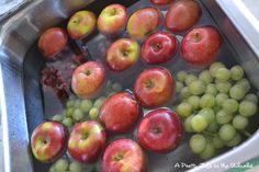
[[[202,10],[194,0],[181,0],[172,3],[166,14],[165,26],[171,32],[191,28],[200,19]]]

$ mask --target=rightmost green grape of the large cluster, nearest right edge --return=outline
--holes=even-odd
[[[249,117],[257,113],[257,105],[249,101],[241,101],[238,111],[240,115]]]

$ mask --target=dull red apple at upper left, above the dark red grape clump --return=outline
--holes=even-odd
[[[53,56],[66,47],[67,34],[59,27],[48,28],[41,35],[37,45],[44,57],[53,59]]]

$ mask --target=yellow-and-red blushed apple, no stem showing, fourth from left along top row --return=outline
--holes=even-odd
[[[131,15],[127,22],[127,32],[131,37],[143,41],[158,28],[160,21],[161,14],[156,8],[144,8]]]

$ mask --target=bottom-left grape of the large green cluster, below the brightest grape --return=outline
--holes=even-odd
[[[193,135],[189,141],[190,148],[194,153],[201,153],[206,148],[206,139],[203,135]]]

